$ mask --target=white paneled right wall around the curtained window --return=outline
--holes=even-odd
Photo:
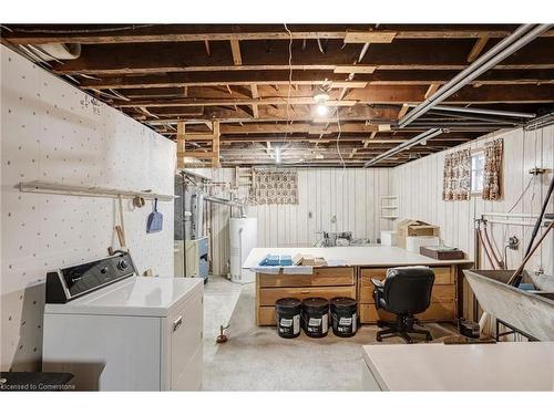
[[[554,126],[536,132],[524,133],[520,128],[494,133],[455,149],[482,147],[485,141],[496,137],[504,138],[503,196],[500,200],[488,201],[482,200],[481,197],[472,197],[470,200],[443,201],[444,155],[454,151],[449,149],[394,168],[392,188],[393,193],[400,196],[400,216],[439,225],[444,243],[459,247],[473,258],[473,219],[483,212],[506,212],[516,203],[531,179],[527,172],[535,166],[548,168],[550,172],[533,179],[530,189],[522,201],[515,206],[513,212],[537,215],[553,175]],[[547,211],[554,211],[553,200]],[[497,251],[501,253],[507,237],[515,235],[520,238],[521,248],[516,251],[509,250],[507,256],[509,268],[515,269],[522,260],[532,228],[491,225],[491,229]],[[547,238],[534,256],[529,267],[530,270],[543,268],[548,271],[553,261],[551,240]],[[481,257],[484,257],[484,252]],[[482,266],[490,268],[486,260]]]

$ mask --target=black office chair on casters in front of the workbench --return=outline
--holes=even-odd
[[[429,268],[390,268],[387,270],[384,281],[371,279],[376,289],[373,299],[376,308],[383,309],[397,314],[397,321],[387,322],[379,320],[379,328],[387,326],[377,333],[377,341],[383,336],[398,335],[407,343],[413,343],[409,333],[424,334],[427,341],[433,340],[429,330],[414,329],[417,323],[413,314],[425,311],[431,303],[431,290],[434,282],[434,273]]]

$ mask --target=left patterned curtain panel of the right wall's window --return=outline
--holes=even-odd
[[[471,155],[461,149],[444,157],[442,200],[469,200],[471,189]]]

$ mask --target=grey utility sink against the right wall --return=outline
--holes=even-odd
[[[464,270],[465,278],[490,315],[531,334],[541,341],[554,341],[554,290],[521,290],[507,286],[515,270]],[[523,283],[532,283],[524,273]]]

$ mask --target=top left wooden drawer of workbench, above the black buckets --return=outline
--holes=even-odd
[[[355,283],[353,268],[314,268],[311,274],[258,274],[259,287],[326,287]]]

